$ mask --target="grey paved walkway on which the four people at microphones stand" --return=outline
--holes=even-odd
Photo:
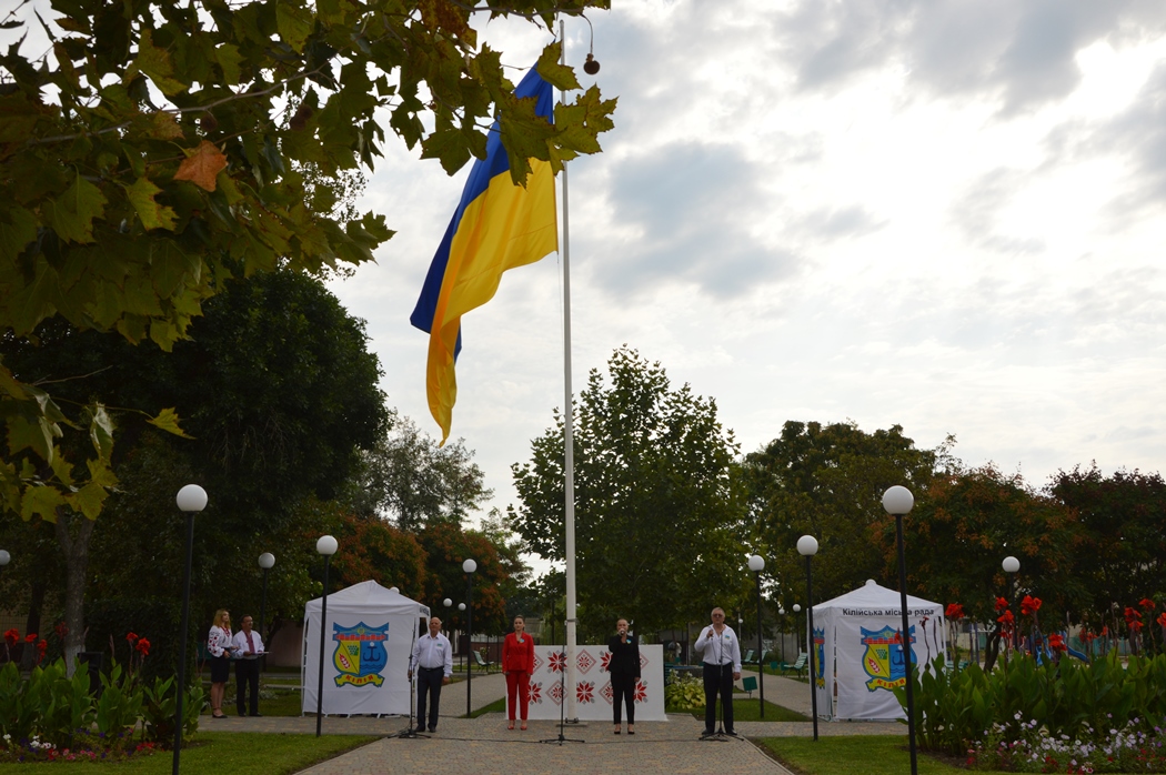
[[[749,674],[745,675],[756,675]],[[765,677],[766,698],[809,716],[809,686],[798,681]],[[788,770],[770,759],[746,738],[810,737],[810,723],[740,721],[742,738],[702,740],[703,723],[690,714],[672,714],[668,721],[641,721],[635,735],[612,734],[604,723],[569,724],[560,731],[554,721],[528,723],[526,732],[506,728],[503,713],[477,719],[465,713],[465,683],[442,689],[442,718],[436,734],[426,738],[394,737],[408,726],[403,717],[325,717],[329,734],[384,735],[367,746],[303,770],[302,775],[380,775],[384,773],[773,773]],[[475,710],[504,697],[501,675],[476,675],[471,689]],[[738,698],[736,702],[750,702]],[[754,700],[756,702],[756,695]],[[215,726],[217,732],[271,732],[312,734],[315,717],[232,718]],[[819,735],[904,734],[900,724],[819,723]]]

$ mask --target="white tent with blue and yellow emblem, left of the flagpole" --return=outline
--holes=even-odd
[[[325,716],[337,713],[409,713],[409,656],[429,607],[396,587],[361,582],[328,596],[328,621],[321,622],[322,598],[303,607],[304,713],[316,712],[319,681],[319,632],[324,627]]]

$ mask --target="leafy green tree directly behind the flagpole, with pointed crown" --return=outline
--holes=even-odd
[[[732,468],[737,445],[716,402],[673,389],[659,362],[621,347],[610,385],[592,369],[576,403],[576,589],[584,633],[618,617],[652,632],[703,619],[725,605],[725,578],[739,576],[743,509]],[[532,442],[513,465],[520,505],[511,517],[525,547],[564,557],[563,425]]]

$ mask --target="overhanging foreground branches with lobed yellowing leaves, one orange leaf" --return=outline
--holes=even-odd
[[[45,16],[19,3],[2,20],[19,41],[0,56],[0,329],[33,337],[59,317],[169,350],[229,277],[370,260],[392,234],[384,216],[333,217],[326,181],[372,169],[386,111],[451,172],[484,156],[496,110],[515,182],[529,158],[557,170],[597,153],[614,101],[592,87],[552,126],[469,23],[489,13],[550,29],[556,13],[592,7],[607,3],[54,0]],[[559,52],[543,50],[540,73],[578,89]],[[114,484],[100,397],[66,414],[5,366],[0,388],[3,505],[96,519]],[[178,428],[169,411],[153,422]],[[66,428],[92,450],[63,458]]]

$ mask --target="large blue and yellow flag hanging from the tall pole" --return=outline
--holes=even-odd
[[[554,120],[554,90],[534,68],[514,96],[534,98],[539,115]],[[494,121],[486,157],[470,170],[462,200],[409,316],[413,325],[429,332],[426,392],[429,411],[441,425],[442,443],[449,438],[457,400],[454,361],[462,348],[462,316],[493,298],[504,272],[559,249],[550,163],[531,160],[526,188],[515,185],[499,135]]]

